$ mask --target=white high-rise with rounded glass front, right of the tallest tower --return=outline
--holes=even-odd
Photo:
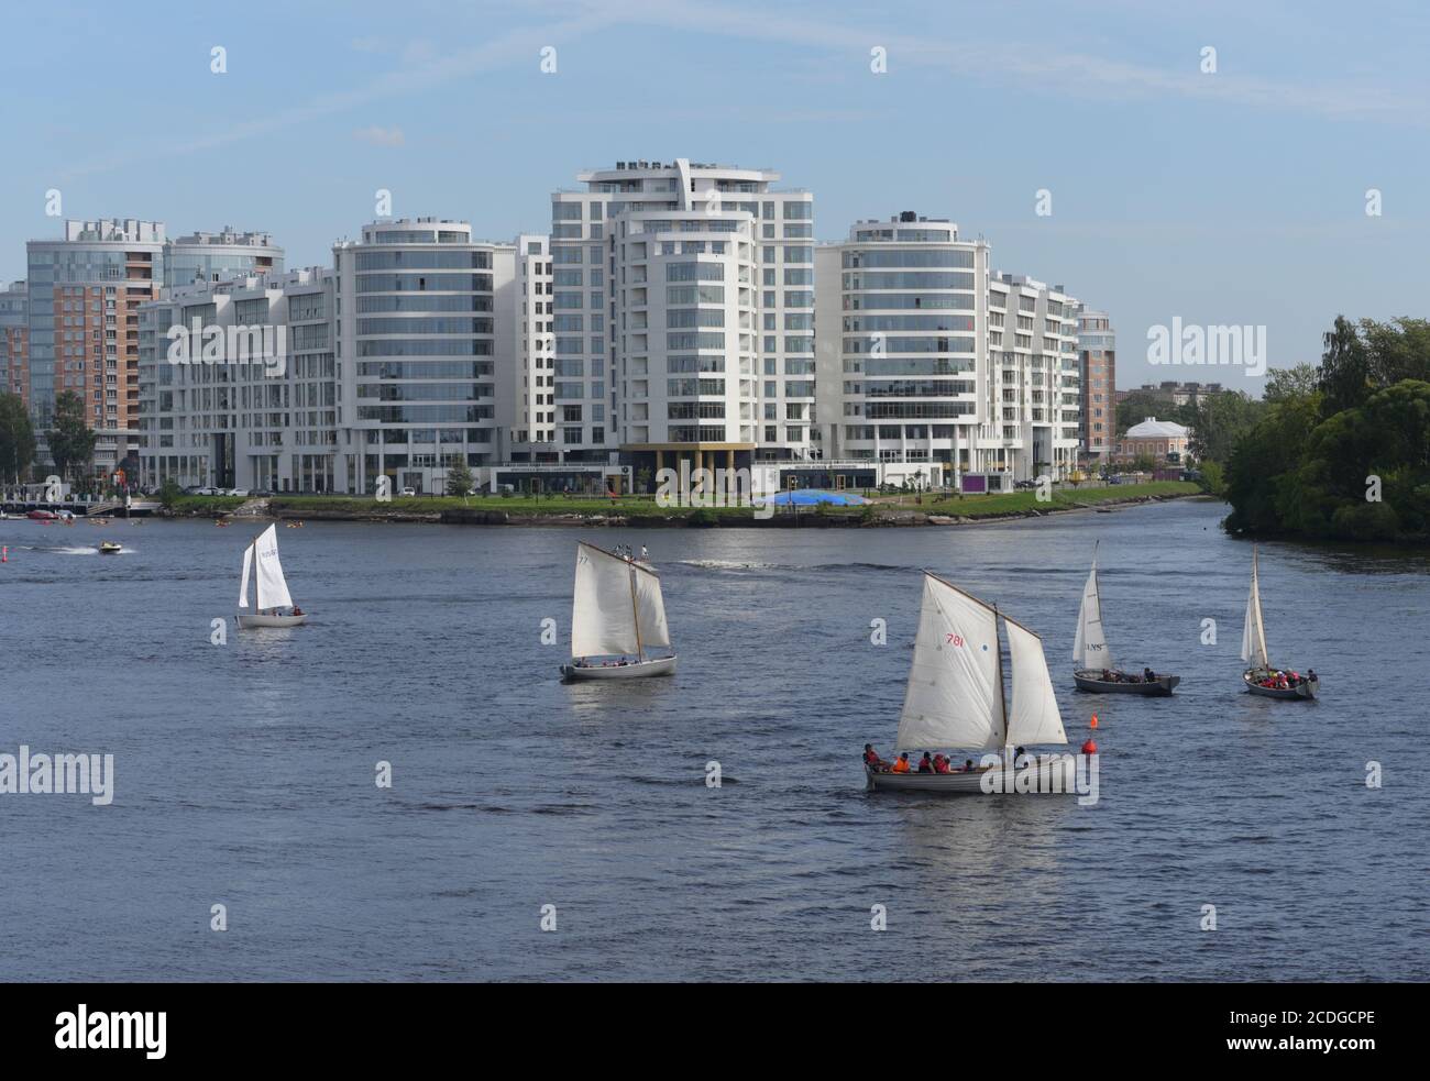
[[[825,472],[851,485],[1061,475],[1075,462],[1075,302],[994,275],[947,219],[859,222],[817,257]]]

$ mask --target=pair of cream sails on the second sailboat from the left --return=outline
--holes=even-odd
[[[661,579],[593,545],[576,545],[572,656],[639,656],[671,645]]]

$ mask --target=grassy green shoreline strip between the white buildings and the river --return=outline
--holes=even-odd
[[[1170,482],[1168,482],[1170,483]],[[857,513],[844,509],[818,512],[814,508],[789,513],[779,510],[769,518],[756,518],[749,508],[689,509],[685,512],[642,513],[639,509],[618,509],[602,512],[595,509],[542,512],[536,508],[505,509],[489,506],[449,508],[383,508],[369,503],[353,506],[353,499],[335,499],[333,506],[286,505],[282,496],[252,499],[237,508],[196,506],[160,512],[164,519],[212,519],[212,520],[276,520],[276,522],[372,522],[372,523],[423,523],[423,525],[472,525],[472,526],[576,526],[576,528],[626,528],[626,529],[899,529],[899,528],[954,528],[991,522],[1052,518],[1070,513],[1113,513],[1115,508],[1143,503],[1163,503],[1174,499],[1214,499],[1207,493],[1191,490],[1137,492],[1107,499],[1080,500],[1077,492],[1058,492],[1048,505],[1015,506],[991,513],[960,513],[977,509],[954,503],[931,502],[928,508],[904,503],[869,503]],[[1105,489],[1095,489],[1105,490]],[[1011,493],[1008,493],[1011,495]],[[1000,499],[1001,496],[975,496],[974,499]],[[310,498],[309,498],[310,499]],[[553,500],[555,502],[555,500]],[[872,510],[869,509],[872,508]]]

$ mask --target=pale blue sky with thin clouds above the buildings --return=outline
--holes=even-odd
[[[1414,3],[24,6],[0,43],[0,275],[59,233],[49,189],[67,217],[263,229],[299,266],[379,187],[511,239],[582,167],[691,157],[812,189],[822,240],[952,217],[998,269],[1113,313],[1120,386],[1257,390],[1150,366],[1147,330],[1264,325],[1286,366],[1337,313],[1426,315],[1427,44]]]

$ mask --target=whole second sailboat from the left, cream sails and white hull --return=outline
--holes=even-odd
[[[649,649],[669,648],[659,575],[603,548],[578,543],[571,663],[561,673],[566,679],[672,675],[674,653],[646,656]]]

